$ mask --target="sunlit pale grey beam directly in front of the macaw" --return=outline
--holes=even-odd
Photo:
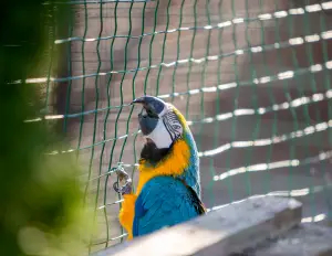
[[[94,256],[226,256],[291,230],[300,224],[301,210],[302,204],[293,199],[252,196]]]

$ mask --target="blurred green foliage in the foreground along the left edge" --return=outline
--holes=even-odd
[[[7,1],[0,11],[1,255],[84,255],[90,237],[75,160],[48,154],[64,147],[63,138],[45,121],[24,122],[41,115],[44,87],[11,83],[46,75],[54,38],[46,28],[58,17],[64,22],[70,6],[43,2]]]

